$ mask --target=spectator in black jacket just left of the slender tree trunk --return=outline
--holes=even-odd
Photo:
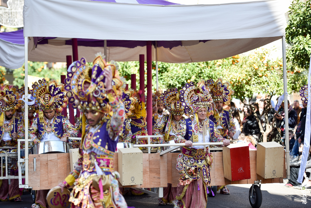
[[[244,119],[242,121],[243,132],[247,136],[249,135],[253,136],[256,139],[256,144],[257,144],[259,137],[260,137],[260,128],[259,128],[258,121],[255,115],[253,114],[253,111],[249,105],[244,105],[243,111],[245,114]]]

